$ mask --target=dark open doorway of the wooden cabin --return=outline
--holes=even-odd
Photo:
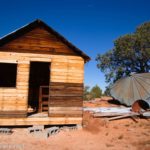
[[[50,81],[50,63],[31,62],[30,77],[29,77],[29,98],[28,98],[28,105],[29,105],[28,107],[31,110],[31,113],[38,112],[40,87],[41,86],[49,87],[49,81]]]

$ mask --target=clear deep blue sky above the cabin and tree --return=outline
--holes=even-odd
[[[92,58],[85,65],[85,84],[98,84],[104,90],[96,55],[111,49],[119,36],[150,21],[150,0],[0,0],[0,37],[36,18]]]

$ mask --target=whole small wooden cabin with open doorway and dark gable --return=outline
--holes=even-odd
[[[0,39],[0,126],[82,124],[90,57],[41,20]]]

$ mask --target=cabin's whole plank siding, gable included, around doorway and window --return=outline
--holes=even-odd
[[[50,117],[82,117],[84,59],[42,28],[0,47],[0,62],[17,63],[16,88],[0,88],[0,116],[26,115],[30,61],[51,62]]]

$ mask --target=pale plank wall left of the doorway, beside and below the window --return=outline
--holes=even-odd
[[[0,62],[1,61],[3,62],[3,59],[1,59]],[[0,88],[0,117],[26,116],[28,74],[29,62],[27,64],[21,64],[20,61],[18,61],[16,87]]]

